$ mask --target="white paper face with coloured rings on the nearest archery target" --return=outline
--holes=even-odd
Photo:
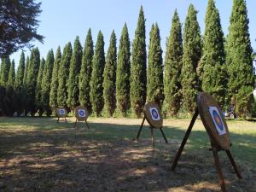
[[[213,123],[216,130],[218,131],[218,135],[224,135],[227,131],[224,122],[221,119],[220,114],[218,113],[218,108],[209,107],[209,112],[211,113]]]

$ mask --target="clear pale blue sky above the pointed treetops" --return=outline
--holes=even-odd
[[[36,1],[39,2],[39,1]],[[137,18],[140,6],[143,6],[146,18],[146,41],[148,46],[149,32],[152,24],[157,22],[160,27],[161,46],[166,51],[166,38],[170,34],[172,16],[177,9],[181,23],[184,26],[185,17],[192,3],[198,10],[197,20],[204,32],[204,20],[207,9],[207,0],[42,0],[42,13],[38,16],[40,20],[38,33],[43,35],[44,44],[37,41],[32,42],[38,47],[41,57],[46,58],[49,49],[54,52],[61,46],[61,52],[67,42],[73,44],[76,36],[84,47],[84,40],[89,28],[92,38],[96,44],[99,30],[102,31],[105,41],[105,53],[108,50],[109,38],[114,30],[117,36],[117,46],[122,28],[126,22],[129,30],[130,40],[134,38],[137,27]],[[229,32],[230,14],[232,0],[216,0],[216,6],[221,18],[224,36]],[[256,1],[247,0],[247,12],[249,18],[249,32],[252,47],[256,50]],[[30,51],[25,49],[25,54]],[[16,67],[20,60],[21,51],[11,55],[15,59]]]

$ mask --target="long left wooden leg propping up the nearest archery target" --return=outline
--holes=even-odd
[[[174,171],[175,167],[177,166],[177,160],[179,159],[180,155],[183,152],[183,148],[184,148],[185,144],[187,143],[187,140],[189,138],[189,134],[192,130],[193,125],[195,124],[195,120],[196,120],[197,116],[198,116],[198,108],[195,109],[194,116],[193,116],[193,118],[192,118],[192,120],[190,121],[190,124],[189,124],[189,128],[186,131],[185,136],[183,137],[183,142],[181,143],[181,145],[180,145],[180,147],[177,151],[176,157],[175,157],[175,159],[172,163],[172,171]]]

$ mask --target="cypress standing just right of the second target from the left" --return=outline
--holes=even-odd
[[[103,71],[105,66],[104,38],[100,31],[98,33],[95,54],[92,60],[92,73],[90,79],[90,102],[92,110],[99,116],[104,105],[103,101]]]

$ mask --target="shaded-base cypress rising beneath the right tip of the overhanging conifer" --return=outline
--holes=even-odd
[[[37,112],[36,86],[40,66],[40,53],[38,48],[32,49],[26,78],[26,113],[32,116]]]

